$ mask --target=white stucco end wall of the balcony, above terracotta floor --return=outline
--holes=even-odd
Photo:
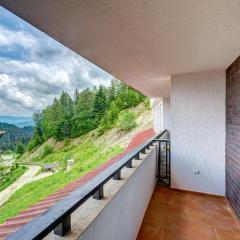
[[[171,86],[172,187],[224,195],[225,71],[175,75]]]

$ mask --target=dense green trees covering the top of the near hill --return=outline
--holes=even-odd
[[[97,129],[98,135],[115,125],[129,130],[135,126],[134,115],[124,109],[137,106],[145,99],[144,95],[115,79],[109,87],[87,88],[81,92],[76,89],[73,98],[62,92],[52,105],[34,114],[34,136],[28,150],[49,138],[61,141],[93,129]]]

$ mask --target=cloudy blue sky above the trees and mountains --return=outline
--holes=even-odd
[[[0,115],[31,116],[110,74],[0,6]]]

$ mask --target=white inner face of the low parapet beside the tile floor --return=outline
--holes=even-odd
[[[135,240],[156,184],[156,148],[81,234],[81,240]]]

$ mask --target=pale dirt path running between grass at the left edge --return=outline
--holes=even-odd
[[[40,166],[28,166],[28,170],[20,178],[0,192],[0,206],[2,206],[13,195],[13,193],[16,192],[16,190],[26,183],[31,182],[39,170]]]

